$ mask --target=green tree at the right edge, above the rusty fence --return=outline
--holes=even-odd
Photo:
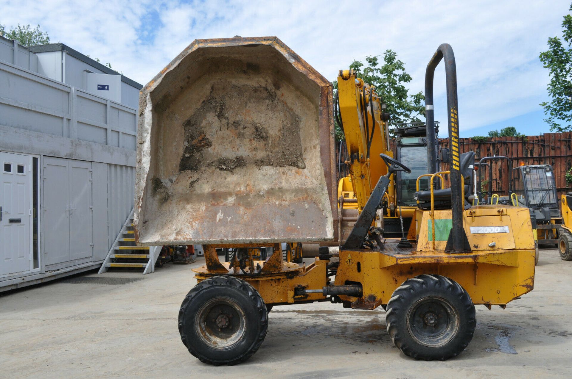
[[[572,4],[569,10],[572,11]],[[547,116],[545,122],[550,130],[562,132],[572,130],[572,15],[562,21],[562,39],[548,39],[548,50],[539,58],[550,73],[547,90],[551,100],[540,105]]]

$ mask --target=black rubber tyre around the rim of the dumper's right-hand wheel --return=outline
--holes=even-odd
[[[431,348],[415,341],[407,328],[407,313],[416,301],[427,296],[442,297],[459,313],[459,330],[444,346]],[[440,275],[419,275],[398,287],[387,303],[387,332],[394,345],[416,360],[444,361],[461,353],[472,340],[476,328],[475,305],[454,280]]]

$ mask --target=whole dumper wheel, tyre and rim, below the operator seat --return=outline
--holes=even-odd
[[[471,342],[475,306],[458,283],[440,275],[406,280],[387,304],[387,332],[416,360],[447,360]]]

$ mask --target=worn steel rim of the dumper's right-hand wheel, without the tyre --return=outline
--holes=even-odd
[[[459,312],[442,297],[416,301],[407,312],[407,330],[423,346],[439,348],[451,342],[460,326]]]

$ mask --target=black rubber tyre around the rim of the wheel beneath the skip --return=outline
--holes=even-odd
[[[243,340],[227,350],[212,349],[194,328],[201,305],[213,297],[230,297],[246,315]],[[178,329],[182,343],[201,362],[215,366],[236,365],[250,358],[264,341],[268,328],[268,311],[260,294],[252,285],[232,276],[213,276],[193,287],[182,301]]]

